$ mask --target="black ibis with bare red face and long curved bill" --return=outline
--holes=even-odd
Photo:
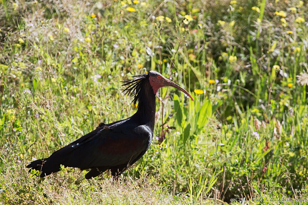
[[[65,167],[91,169],[86,179],[98,176],[106,170],[117,177],[139,160],[148,150],[153,137],[157,90],[172,86],[193,97],[182,87],[163,77],[156,71],[133,76],[124,80],[123,91],[134,97],[137,112],[125,119],[110,124],[100,123],[92,132],[54,152],[48,158],[31,162],[27,168],[41,172],[40,177],[60,171]]]

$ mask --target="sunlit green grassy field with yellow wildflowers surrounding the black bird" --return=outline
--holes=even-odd
[[[306,1],[0,0],[0,204],[308,204]],[[118,182],[26,165],[135,112],[153,140]],[[174,127],[172,129],[172,127]]]

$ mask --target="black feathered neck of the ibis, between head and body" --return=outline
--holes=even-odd
[[[149,126],[153,131],[156,112],[156,93],[154,94],[150,83],[148,84],[149,85],[143,86],[142,90],[140,90],[141,95],[138,99],[138,108],[134,116],[141,124]]]

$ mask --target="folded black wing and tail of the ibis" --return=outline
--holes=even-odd
[[[82,170],[132,164],[148,149],[150,139],[152,131],[145,125],[124,122],[105,125],[27,167],[42,171],[41,176],[45,176],[59,171],[60,164]]]

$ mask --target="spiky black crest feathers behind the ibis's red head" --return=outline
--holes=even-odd
[[[137,105],[138,99],[143,95],[140,91],[142,91],[142,87],[144,86],[146,80],[148,80],[149,73],[144,73],[140,75],[132,76],[132,79],[129,80],[123,80],[124,84],[122,86],[127,86],[125,89],[122,90],[122,92],[125,92],[125,95],[129,95],[131,97],[134,97],[132,100],[132,103],[134,105]]]

